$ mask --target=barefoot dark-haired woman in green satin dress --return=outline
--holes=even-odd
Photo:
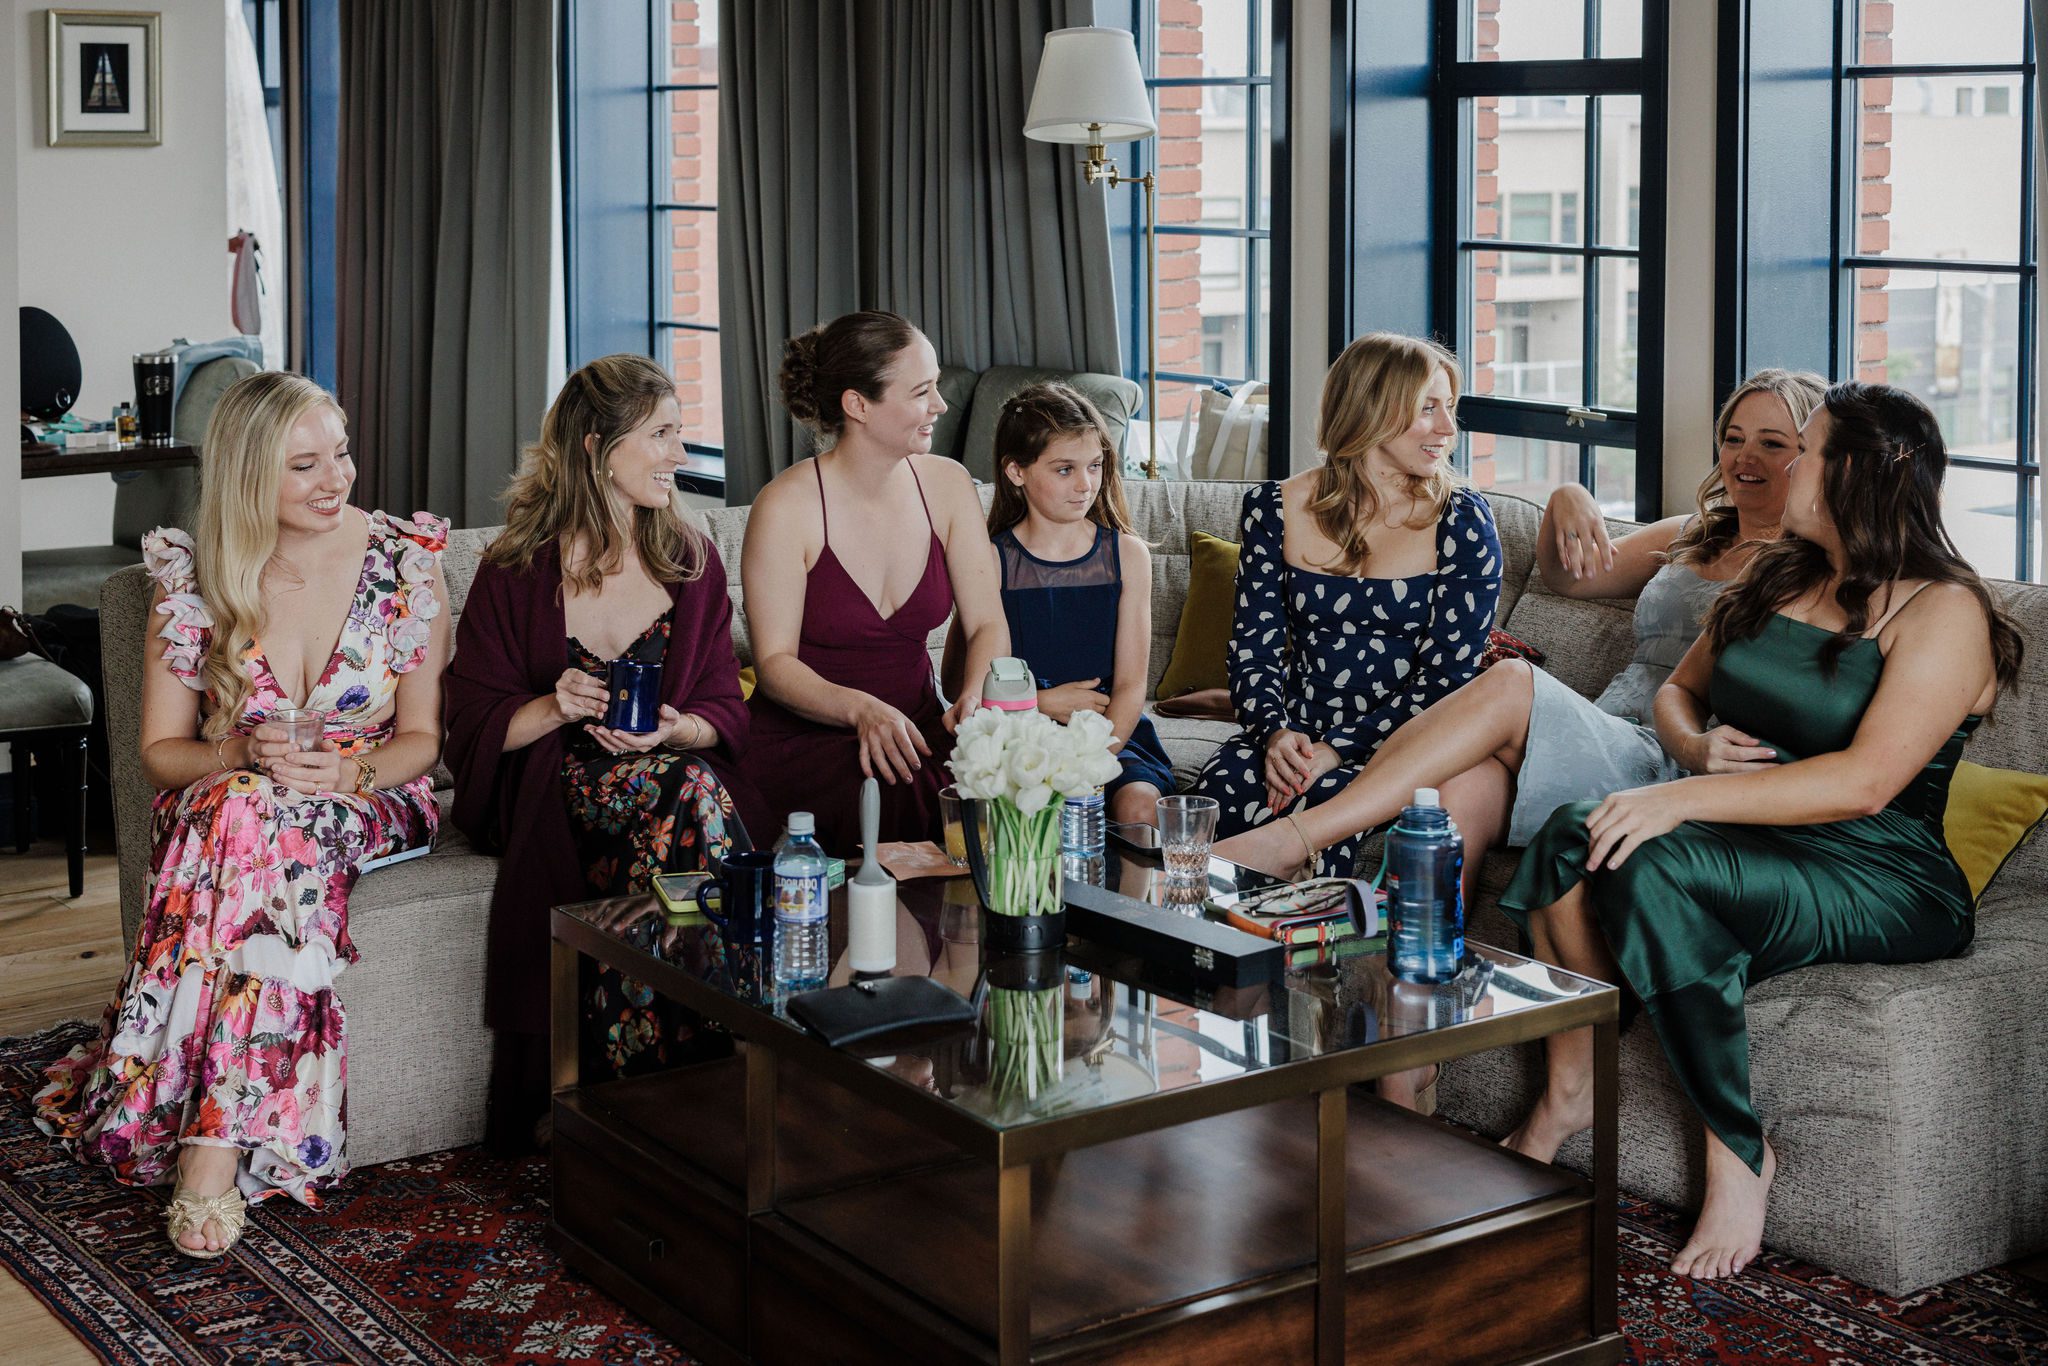
[[[1970,944],[1942,813],[2021,643],[1942,528],[1946,467],[1917,397],[1829,389],[1800,432],[1786,537],[1657,694],[1663,743],[1700,776],[1559,807],[1501,895],[1538,956],[1628,983],[1706,1122],[1706,1202],[1671,1262],[1686,1276],[1733,1276],[1761,1245],[1776,1155],[1749,1100],[1747,987]],[[1710,764],[1710,717],[1776,758]],[[1540,1161],[1593,1118],[1591,1030],[1552,1036],[1548,1067],[1505,1139]]]

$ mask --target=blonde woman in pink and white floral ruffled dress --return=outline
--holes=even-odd
[[[434,838],[449,655],[446,522],[348,506],[326,389],[244,379],[205,451],[197,532],[143,541],[162,627],[143,659],[158,795],[135,956],[98,1040],[37,1096],[80,1161],[176,1178],[170,1237],[190,1257],[233,1245],[244,1196],[317,1208],[348,1173],[348,891],[365,860]],[[268,721],[291,707],[328,713],[315,750]]]

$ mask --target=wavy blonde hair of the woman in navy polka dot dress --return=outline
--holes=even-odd
[[[1462,377],[1458,356],[1448,348],[1399,332],[1368,332],[1343,348],[1323,381],[1323,414],[1315,444],[1323,467],[1315,475],[1309,512],[1317,530],[1337,547],[1335,573],[1360,575],[1372,557],[1366,528],[1380,518],[1380,494],[1366,475],[1366,457],[1415,424],[1423,395],[1438,371],[1450,381],[1450,401],[1458,401]],[[1423,477],[1409,477],[1407,492],[1423,508],[1427,526],[1444,516],[1450,496],[1464,481],[1438,461]]]

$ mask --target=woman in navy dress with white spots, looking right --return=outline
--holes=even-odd
[[[1450,469],[1456,401],[1456,356],[1366,334],[1323,381],[1323,465],[1245,494],[1229,655],[1245,729],[1190,788],[1223,807],[1219,838],[1337,795],[1395,727],[1479,672],[1501,541]],[[1356,856],[1343,840],[1315,870],[1350,877]]]

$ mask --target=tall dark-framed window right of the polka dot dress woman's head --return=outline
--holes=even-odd
[[[1473,483],[1540,502],[1579,481],[1659,516],[1661,362],[1636,338],[1663,299],[1665,0],[1442,4],[1438,174],[1458,195],[1434,313],[1466,362]]]

